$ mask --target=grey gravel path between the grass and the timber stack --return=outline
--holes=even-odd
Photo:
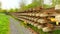
[[[10,19],[11,34],[33,34],[32,32],[30,32],[30,30],[20,25],[21,22],[16,21],[12,17],[10,17],[9,19]]]

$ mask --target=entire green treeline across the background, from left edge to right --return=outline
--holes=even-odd
[[[51,1],[51,0],[50,0]],[[20,12],[25,11],[28,9],[33,9],[35,7],[41,7],[41,8],[51,8],[55,7],[56,4],[60,4],[60,0],[52,0],[52,5],[44,4],[44,0],[32,0],[31,4],[26,5],[26,0],[22,0],[21,3],[19,3],[20,8],[11,8],[10,10],[0,10],[0,12]]]

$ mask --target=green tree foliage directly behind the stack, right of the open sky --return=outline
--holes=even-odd
[[[60,0],[52,0],[52,5],[43,4],[43,0],[33,0],[31,4],[21,7],[20,11],[28,10],[29,8],[34,8],[37,6],[43,6],[43,8],[55,7],[56,4],[60,4]]]

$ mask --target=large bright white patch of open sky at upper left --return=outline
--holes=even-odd
[[[19,8],[20,0],[0,0],[3,9]]]

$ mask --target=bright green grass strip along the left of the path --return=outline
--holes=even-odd
[[[0,13],[0,34],[7,34],[9,31],[8,16],[4,13]]]

